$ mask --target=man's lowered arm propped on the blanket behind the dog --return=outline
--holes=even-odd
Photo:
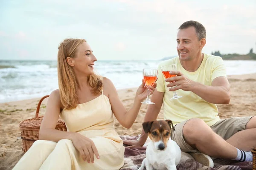
[[[157,116],[163,104],[163,96],[164,96],[164,92],[154,91],[154,93],[151,96],[151,102],[154,102],[155,104],[148,105],[144,122],[154,121],[157,119]],[[147,138],[148,138],[148,134],[145,133],[144,130],[142,129],[139,141],[124,141],[124,144],[129,145],[130,148],[142,147],[143,144],[145,144]]]

